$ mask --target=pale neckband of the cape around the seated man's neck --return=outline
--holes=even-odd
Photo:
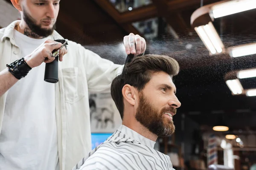
[[[137,140],[141,144],[144,144],[148,147],[154,148],[154,144],[156,142],[140,135],[139,133],[137,133],[136,131],[130,129],[129,127],[127,127],[125,125],[121,125],[117,130],[119,130],[122,133],[125,133],[125,135],[129,136],[131,139]]]

